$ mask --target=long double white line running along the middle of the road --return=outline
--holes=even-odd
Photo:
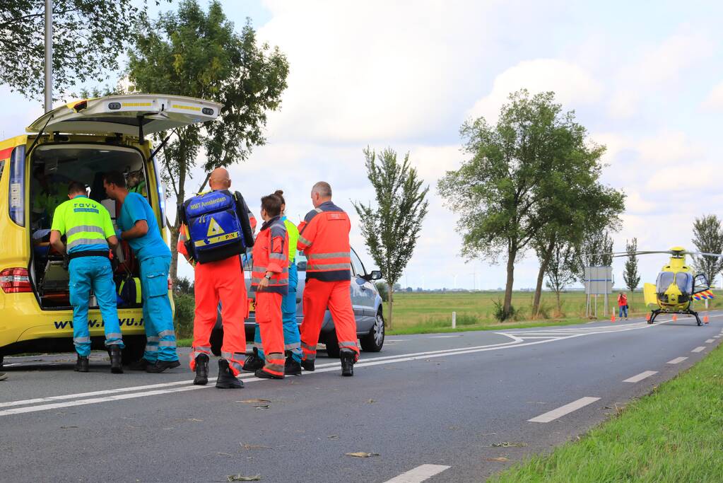
[[[567,339],[567,338],[581,337],[583,335],[593,335],[596,333],[618,332],[620,330],[636,330],[636,329],[641,329],[641,328],[652,328],[652,327],[654,327],[654,325],[644,324],[644,325],[633,327],[633,324],[629,324],[628,328],[618,327],[618,328],[607,328],[607,330],[603,330],[600,332],[549,335],[547,338],[544,338],[543,340],[537,340],[537,341],[531,341],[531,342],[525,342],[523,337],[518,337],[518,335],[524,335],[524,333],[518,333],[517,335],[513,335],[511,333],[499,332],[499,333],[497,333],[498,335],[504,335],[505,337],[512,339],[512,341],[488,344],[486,346],[471,346],[471,347],[456,348],[456,349],[442,349],[442,350],[438,350],[438,351],[416,352],[416,353],[412,353],[412,354],[397,354],[395,356],[373,357],[370,359],[361,359],[361,361],[359,361],[356,364],[356,367],[376,366],[376,365],[380,365],[380,364],[393,364],[393,363],[397,363],[397,362],[414,361],[417,359],[431,359],[434,357],[474,354],[476,352],[495,351],[498,349],[508,349],[508,348],[512,348],[512,347],[534,346],[534,345],[541,344],[541,343],[555,342],[555,341],[560,341],[560,340]],[[341,364],[339,362],[331,362],[328,364],[318,364],[317,370],[315,371],[315,373],[330,372],[330,371],[338,370],[340,366],[341,366]],[[311,373],[304,372],[304,374],[309,375]],[[240,378],[242,380],[244,380],[245,382],[262,381],[262,379],[254,377],[254,375],[252,375],[252,374],[242,375]],[[211,380],[209,380],[209,382],[211,382]],[[175,386],[175,385],[184,385],[184,384],[187,384],[189,386],[184,387],[184,388],[173,388],[173,386]],[[60,407],[67,407],[67,406],[80,406],[83,404],[103,403],[103,402],[107,402],[107,401],[117,401],[119,399],[140,398],[143,396],[157,396],[157,395],[162,395],[162,394],[167,394],[167,393],[181,392],[184,390],[213,387],[213,385],[194,386],[191,384],[192,384],[192,381],[190,381],[190,380],[175,381],[175,382],[165,382],[165,383],[153,384],[153,385],[134,386],[131,388],[100,390],[100,391],[93,391],[91,393],[77,393],[77,394],[67,394],[64,396],[48,396],[46,398],[26,399],[23,401],[9,401],[6,403],[0,403],[0,407],[22,406],[25,404],[46,403],[46,402],[49,402],[49,404],[40,404],[38,406],[31,406],[31,407],[27,407],[27,408],[7,409],[7,410],[0,411],[0,416],[7,416],[10,414],[20,414],[20,413],[27,413],[27,412],[35,412],[35,411],[46,411],[48,409],[58,409]],[[147,390],[147,389],[152,389],[152,390],[146,391],[146,392],[133,393],[133,394],[119,394],[119,393],[128,393],[128,392],[132,392],[132,391],[142,391],[142,390]],[[53,403],[53,401],[63,401],[63,400],[74,399],[74,398],[87,398],[88,396],[106,396],[106,395],[107,395],[107,397],[105,397],[105,398],[90,398],[90,399],[82,399],[81,401],[67,401],[67,402],[63,402],[63,403]]]

